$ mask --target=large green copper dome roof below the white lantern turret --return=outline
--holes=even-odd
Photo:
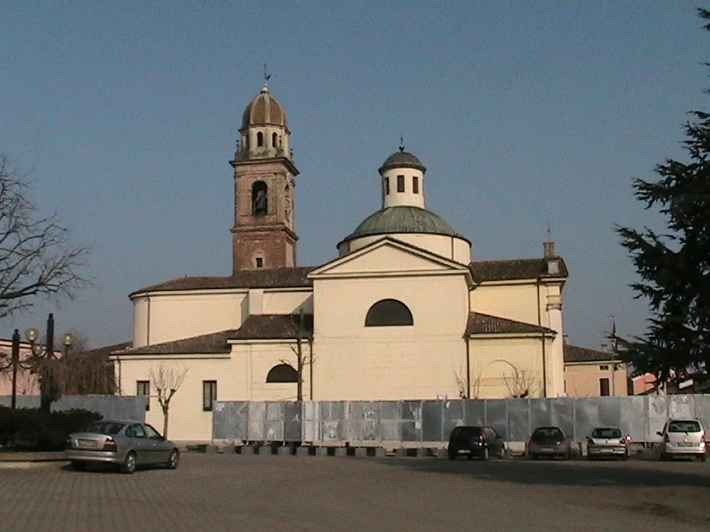
[[[343,239],[343,242],[361,236],[388,233],[428,233],[464,238],[432,211],[415,206],[395,206],[387,207],[365,218],[355,231]]]

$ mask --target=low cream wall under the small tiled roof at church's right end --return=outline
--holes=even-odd
[[[540,338],[471,339],[471,397],[503,399],[519,394],[523,389],[529,389],[529,397],[542,397],[545,392],[543,379],[547,379],[549,388],[554,363],[547,356],[550,340],[546,342],[543,357]],[[547,395],[549,397],[549,390]]]

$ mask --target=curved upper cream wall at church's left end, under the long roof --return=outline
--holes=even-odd
[[[134,300],[134,347],[239,328],[246,319],[246,290],[149,298],[148,303]]]

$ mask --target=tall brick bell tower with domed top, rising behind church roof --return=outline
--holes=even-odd
[[[268,79],[268,77],[267,77]],[[234,160],[234,270],[296,265],[295,177],[286,113],[265,81],[246,106]]]

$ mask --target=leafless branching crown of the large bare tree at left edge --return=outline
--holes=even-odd
[[[0,155],[0,318],[33,306],[37,297],[69,297],[88,284],[77,273],[89,248],[70,244],[57,214],[38,215],[28,173]]]

